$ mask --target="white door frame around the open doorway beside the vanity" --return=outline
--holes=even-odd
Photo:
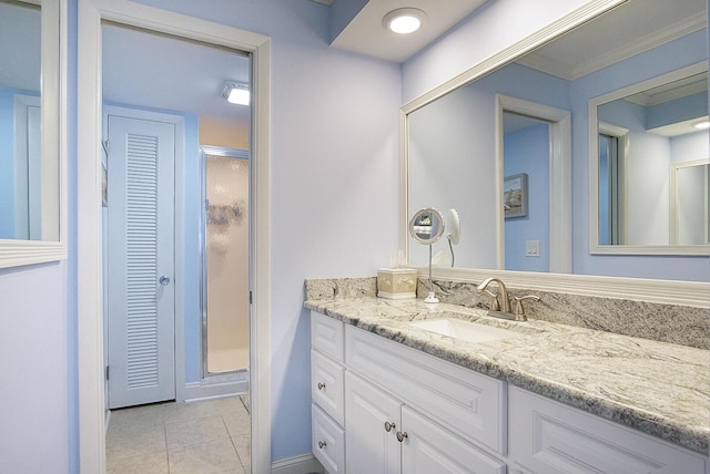
[[[128,0],[79,0],[77,91],[77,332],[79,467],[105,472],[101,136],[101,23],[129,27],[224,45],[252,53],[252,163],[250,168],[250,390],[252,468],[271,471],[271,39]],[[196,249],[195,249],[196,251]]]

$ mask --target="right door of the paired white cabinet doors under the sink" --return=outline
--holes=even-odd
[[[506,465],[408,406],[402,408],[402,472],[505,474]]]

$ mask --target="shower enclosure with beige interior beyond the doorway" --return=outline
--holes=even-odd
[[[203,375],[248,380],[248,153],[202,146]]]

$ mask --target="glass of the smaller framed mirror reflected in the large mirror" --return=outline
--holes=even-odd
[[[708,73],[683,71],[597,105],[599,245],[708,243]]]

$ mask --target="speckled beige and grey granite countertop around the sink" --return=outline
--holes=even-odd
[[[476,372],[708,454],[708,350],[539,320],[507,321],[488,317],[483,309],[427,305],[422,300],[337,298],[307,300],[304,306]],[[519,336],[471,343],[407,324],[450,316],[511,329]]]

